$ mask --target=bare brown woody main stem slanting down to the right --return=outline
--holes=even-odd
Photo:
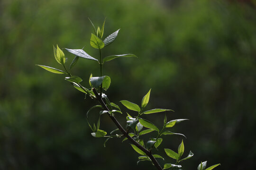
[[[96,91],[96,89],[93,88],[92,91],[95,94],[97,100],[101,103],[101,106],[103,107],[103,109],[110,111],[109,108],[107,107],[107,105],[103,102],[101,96]],[[141,144],[137,143],[137,141],[134,140],[131,136],[129,136],[128,133],[126,132],[126,130],[120,125],[120,123],[118,122],[118,120],[114,116],[112,116],[111,114],[108,114],[108,115],[109,115],[110,119],[115,123],[115,125],[119,128],[119,130],[122,132],[122,134],[125,137],[127,137],[132,144],[136,145],[140,150],[142,150],[144,153],[146,153],[146,155],[154,163],[154,165],[157,168],[157,170],[163,170],[162,167],[159,165],[159,163],[156,161],[156,159],[153,156],[153,154],[150,151],[148,151],[145,147],[143,147]]]

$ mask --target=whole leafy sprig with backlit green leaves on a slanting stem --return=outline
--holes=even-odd
[[[89,19],[90,20],[90,19]],[[108,96],[105,94],[106,91],[109,89],[110,84],[111,84],[111,79],[110,76],[104,76],[103,75],[103,65],[106,62],[109,62],[113,59],[117,59],[120,57],[136,57],[134,54],[120,54],[120,55],[110,55],[107,57],[102,56],[101,50],[105,48],[106,46],[110,45],[113,43],[118,34],[119,30],[115,31],[114,33],[110,34],[107,36],[104,40],[102,39],[104,35],[104,27],[105,27],[105,21],[106,18],[102,24],[102,26],[98,26],[97,29],[94,26],[94,24],[91,22],[92,28],[93,28],[93,33],[91,34],[91,39],[90,39],[90,44],[91,47],[94,49],[97,49],[99,51],[99,57],[92,57],[83,49],[68,49],[64,48],[66,51],[72,53],[74,55],[74,58],[69,65],[68,69],[66,67],[66,57],[64,52],[59,48],[58,45],[53,46],[54,49],[54,57],[55,60],[61,64],[64,68],[64,70],[57,69],[57,68],[52,68],[49,66],[44,66],[44,65],[37,65],[41,68],[46,69],[49,72],[55,73],[55,74],[66,74],[67,76],[64,77],[65,80],[69,81],[73,87],[80,92],[88,95],[90,98],[97,100],[100,104],[92,106],[86,113],[87,117],[87,122],[88,126],[91,128],[91,136],[93,137],[105,137],[107,138],[104,142],[104,146],[106,146],[106,143],[109,139],[111,138],[122,138],[122,142],[129,140],[131,147],[139,153],[141,156],[138,157],[137,163],[141,161],[151,161],[152,164],[156,167],[157,170],[165,170],[165,169],[170,169],[170,170],[181,170],[182,166],[178,165],[178,163],[181,163],[182,161],[185,161],[193,156],[193,153],[190,151],[188,156],[185,158],[182,158],[183,153],[184,153],[184,144],[183,140],[181,144],[178,147],[178,152],[174,152],[171,149],[165,148],[165,153],[167,156],[173,158],[176,160],[175,163],[165,163],[164,168],[160,166],[156,158],[165,160],[162,156],[158,154],[153,154],[152,152],[155,152],[157,148],[160,146],[160,144],[163,141],[163,138],[160,138],[160,136],[163,135],[180,135],[185,137],[183,134],[180,133],[174,133],[169,130],[168,128],[174,127],[174,125],[188,119],[175,119],[167,122],[166,118],[166,113],[171,112],[173,110],[170,109],[151,109],[151,110],[146,110],[146,106],[149,102],[150,99],[150,93],[151,89],[146,93],[146,95],[142,98],[141,105],[139,106],[136,103],[129,102],[128,100],[121,100],[121,104],[124,105],[128,110],[131,111],[136,111],[137,116],[132,117],[130,114],[127,113],[127,121],[126,121],[126,127],[122,127],[119,123],[119,121],[115,118],[115,114],[122,114],[123,112],[121,111],[119,105],[110,102]],[[79,58],[82,59],[90,59],[97,61],[99,64],[100,68],[100,76],[91,76],[89,77],[89,87],[84,87],[82,86],[82,78],[79,76],[74,76],[71,74],[71,71],[73,67],[76,65],[78,62]],[[98,58],[98,59],[97,59]],[[97,123],[90,124],[88,120],[88,115],[91,112],[91,110],[95,110],[95,108],[100,109],[99,111],[99,119]],[[148,121],[147,119],[141,118],[142,116],[148,116],[149,114],[153,113],[159,113],[159,112],[165,112],[165,117],[164,117],[164,125],[161,130],[155,124],[152,122]],[[115,130],[110,132],[110,135],[107,135],[108,133],[102,129],[100,129],[100,124],[101,124],[101,116],[102,115],[108,115],[110,119],[113,121],[113,123],[118,127]],[[91,126],[92,125],[92,126]],[[145,129],[146,128],[146,129]],[[132,129],[133,133],[130,133],[129,130]],[[145,140],[144,135],[149,134],[152,132],[156,132],[157,135],[156,137],[150,137],[149,140]],[[144,140],[146,143],[144,143]],[[199,164],[197,170],[212,170],[213,168],[217,167],[219,164],[210,166],[209,168],[206,169],[206,162],[201,162]]]

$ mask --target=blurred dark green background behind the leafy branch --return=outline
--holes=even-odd
[[[255,0],[1,0],[0,1],[0,169],[154,170],[141,162],[128,141],[93,138],[85,113],[95,104],[64,80],[35,64],[61,68],[53,44],[91,48],[88,17],[105,34],[121,28],[103,56],[133,53],[104,65],[111,77],[111,102],[140,103],[152,88],[147,109],[168,108],[167,119],[190,119],[171,129],[187,136],[184,170],[201,161],[216,170],[256,169]],[[64,51],[68,62],[73,55]],[[79,59],[73,74],[89,86],[99,76],[92,60]],[[121,106],[123,112],[126,110]],[[129,111],[131,115],[134,112]],[[96,121],[98,110],[91,113]],[[125,115],[117,115],[125,125]],[[148,115],[162,126],[164,114]],[[107,116],[101,129],[115,129]],[[152,133],[152,135],[155,135]],[[148,136],[149,137],[149,136]],[[147,136],[146,136],[147,138]],[[160,164],[173,163],[181,136],[164,136]]]

